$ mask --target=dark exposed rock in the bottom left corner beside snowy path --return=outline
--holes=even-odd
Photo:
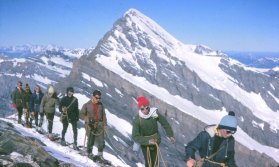
[[[13,128],[11,123],[0,120],[0,159],[5,160],[2,163],[11,162],[12,160],[15,165],[16,163],[28,163],[33,166],[39,165],[43,167],[59,166],[58,160],[50,156],[41,146],[45,146],[45,144],[40,140],[23,136]],[[13,152],[17,152],[23,157],[15,155],[8,157]]]

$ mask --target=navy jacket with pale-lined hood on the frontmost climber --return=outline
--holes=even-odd
[[[216,125],[206,126],[203,132],[200,132],[193,141],[187,144],[185,147],[187,160],[189,157],[196,159],[195,152],[197,150],[199,150],[200,156],[205,159],[212,154],[216,128]],[[225,163],[225,165],[229,167],[236,167],[234,160],[234,138],[230,136],[227,140],[223,140],[219,148],[224,145],[225,147],[215,155],[215,162]],[[210,161],[214,161],[213,158],[211,158]],[[202,166],[218,167],[220,165],[206,161]]]

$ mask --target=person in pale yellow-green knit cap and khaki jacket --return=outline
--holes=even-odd
[[[47,138],[53,140],[52,135],[52,126],[53,126],[53,119],[55,114],[55,105],[59,105],[59,98],[57,94],[54,92],[54,88],[52,86],[49,87],[48,92],[45,93],[44,97],[42,98],[42,102],[40,104],[40,123],[38,131],[40,133],[42,123],[44,121],[44,114],[47,117],[48,122],[48,135]]]

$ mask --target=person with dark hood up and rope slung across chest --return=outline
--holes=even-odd
[[[63,123],[63,130],[62,130],[62,138],[60,144],[62,146],[67,146],[65,142],[65,134],[67,132],[67,128],[69,126],[69,123],[72,124],[73,128],[73,139],[74,139],[74,149],[79,150],[77,138],[78,138],[78,128],[77,128],[77,122],[78,122],[78,99],[73,96],[74,90],[72,87],[67,88],[66,90],[66,96],[64,96],[59,104],[59,111],[62,113],[62,117],[60,121]]]

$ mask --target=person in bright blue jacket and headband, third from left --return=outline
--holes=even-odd
[[[31,94],[29,109],[31,111],[30,123],[32,124],[33,119],[35,119],[36,130],[38,130],[38,115],[40,112],[40,104],[44,94],[41,91],[41,87],[36,85],[34,88],[34,93]]]

